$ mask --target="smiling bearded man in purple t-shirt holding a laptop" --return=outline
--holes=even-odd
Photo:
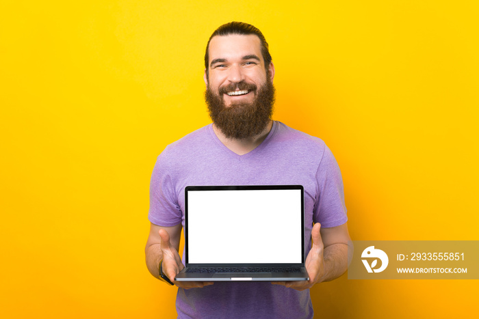
[[[309,288],[347,267],[350,236],[337,162],[321,139],[271,119],[274,65],[253,25],[232,22],[213,32],[204,79],[213,123],[168,145],[153,169],[148,270],[179,287],[179,318],[313,318]],[[304,186],[309,281],[174,281],[184,267],[178,250],[185,186],[266,184]]]

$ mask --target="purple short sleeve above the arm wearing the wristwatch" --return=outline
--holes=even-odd
[[[155,225],[171,227],[181,223],[183,212],[178,204],[165,157],[164,153],[158,156],[151,174],[148,219]]]

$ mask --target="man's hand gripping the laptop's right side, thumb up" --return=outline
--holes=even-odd
[[[306,258],[306,270],[309,275],[309,280],[305,281],[273,281],[272,284],[274,285],[283,285],[287,288],[293,288],[296,290],[306,290],[311,287],[315,283],[321,281],[322,277],[324,276],[325,267],[324,267],[324,245],[321,238],[321,224],[315,223],[313,226],[313,230],[311,230],[311,238],[313,238],[313,245],[311,246],[311,250],[308,253]]]

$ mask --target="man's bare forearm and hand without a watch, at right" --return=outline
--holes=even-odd
[[[351,240],[348,225],[321,228],[315,223],[311,231],[313,245],[306,258],[309,281],[279,281],[296,290],[306,290],[323,281],[331,281],[343,275],[348,268],[348,240]]]

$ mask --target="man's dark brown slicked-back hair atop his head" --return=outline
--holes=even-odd
[[[226,23],[216,29],[211,37],[209,37],[208,43],[206,44],[206,53],[205,53],[205,68],[208,71],[209,69],[209,42],[214,36],[229,36],[230,34],[240,34],[243,36],[248,36],[250,34],[255,34],[261,41],[261,55],[263,55],[263,60],[266,70],[271,63],[270,50],[268,48],[268,42],[263,36],[263,33],[259,31],[254,25],[248,25],[248,23],[233,21]],[[208,74],[208,73],[207,73]]]

